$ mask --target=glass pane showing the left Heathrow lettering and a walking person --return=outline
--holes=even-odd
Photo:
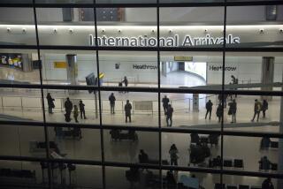
[[[99,67],[103,86],[157,87],[156,52],[99,51]]]

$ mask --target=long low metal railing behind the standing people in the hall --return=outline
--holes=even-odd
[[[65,97],[54,97],[55,101],[55,108],[56,112],[63,112],[65,111],[64,103]],[[96,111],[95,109],[95,99],[94,98],[72,98],[70,96],[70,100],[73,101],[73,105],[76,104],[81,100],[85,104],[86,111]],[[205,95],[199,98],[200,106],[205,107],[205,102],[208,100],[212,100],[215,104],[218,103],[218,96],[217,95]],[[44,99],[45,104],[48,104],[46,99]],[[158,101],[151,101],[153,104],[152,110],[134,110],[134,102],[135,100],[130,100],[130,103],[133,105],[133,113],[134,114],[157,114],[158,113]],[[142,102],[142,101],[139,101]],[[181,98],[181,99],[172,99],[171,101],[172,107],[174,111],[184,113],[189,112],[192,110],[192,98]],[[124,105],[126,104],[125,101],[116,100],[115,102],[115,111],[124,114]],[[36,96],[0,96],[0,107],[4,110],[42,110],[42,98]],[[45,110],[48,110],[46,106]],[[162,109],[163,110],[163,109]],[[110,112],[110,102],[108,100],[102,100],[102,112]]]

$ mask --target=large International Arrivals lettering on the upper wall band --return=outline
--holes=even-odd
[[[206,46],[206,45],[220,45],[226,40],[226,44],[239,44],[240,37],[228,34],[224,37],[213,37],[210,34],[206,34],[203,37],[193,37],[189,34],[183,36],[180,39],[179,34],[174,34],[170,37],[160,37],[160,47],[194,47],[194,46]],[[147,36],[137,37],[123,37],[123,36],[99,36],[97,37],[99,46],[110,47],[157,47],[157,38]],[[96,45],[96,37],[93,34],[89,34],[89,45]]]

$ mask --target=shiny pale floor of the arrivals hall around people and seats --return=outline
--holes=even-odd
[[[76,95],[68,95],[67,91],[54,92],[49,91],[56,99],[55,113],[50,115],[46,112],[47,120],[50,122],[65,122],[64,121],[64,109],[61,107],[66,96],[70,96],[71,99],[83,99],[86,103],[87,117],[88,119],[79,119],[80,123],[86,124],[99,124],[99,119],[95,115],[95,103],[94,96],[88,95],[88,93],[80,92]],[[12,95],[11,95],[12,94]],[[35,91],[18,90],[14,91],[4,90],[1,93],[1,113],[4,115],[10,115],[15,117],[31,118],[34,120],[42,121],[41,99],[40,94]],[[8,96],[9,95],[9,96]],[[116,114],[110,114],[109,92],[102,93],[103,99],[103,125],[140,125],[140,126],[157,126],[158,125],[158,113],[157,113],[157,95],[156,94],[138,94],[127,93],[119,94],[115,93],[117,98]],[[164,94],[162,94],[163,96]],[[200,95],[199,111],[194,111],[189,108],[187,98],[191,98],[191,95],[179,95],[179,94],[167,94],[172,101],[172,107],[175,109],[173,113],[173,127],[180,127],[186,125],[190,127],[192,125],[202,125],[203,128],[219,129],[218,121],[216,117],[217,96]],[[209,95],[208,95],[209,96]],[[238,123],[250,123],[250,119],[253,116],[253,105],[255,99],[260,99],[258,96],[238,96],[238,111],[237,122]],[[63,100],[61,100],[63,99]],[[126,99],[133,101],[154,101],[153,112],[152,111],[134,111],[133,123],[125,124],[123,116],[123,105]],[[205,102],[210,99],[213,103],[213,110],[210,119],[205,119]],[[192,103],[192,102],[191,102]],[[19,106],[21,104],[21,106]],[[164,115],[162,113],[162,126],[165,125]],[[12,117],[10,117],[12,118]],[[229,124],[231,117],[227,116],[227,110],[225,110],[224,122],[229,126],[226,128],[229,131],[255,131],[255,132],[279,132],[279,126],[261,125],[253,126],[248,125],[244,127],[237,127],[237,125]],[[267,110],[267,117],[259,119],[259,123],[268,123],[271,121],[279,121],[279,98],[274,97],[269,102],[269,110]],[[256,124],[256,123],[255,123]],[[215,126],[217,125],[217,126]],[[67,126],[67,125],[66,125]],[[205,127],[207,126],[207,127]],[[24,156],[42,156],[44,154],[30,152],[30,141],[43,141],[44,133],[42,127],[35,126],[11,126],[2,125],[0,127],[0,155],[24,155]],[[65,130],[68,130],[67,128]],[[82,129],[82,140],[72,139],[60,139],[55,136],[54,128],[49,128],[49,138],[58,144],[58,147],[62,154],[67,154],[66,158],[71,159],[84,159],[84,160],[101,160],[100,152],[100,131],[92,129]],[[137,132],[139,140],[138,142],[131,141],[111,141],[110,131],[103,132],[103,144],[105,149],[105,160],[109,162],[121,162],[121,163],[137,163],[138,153],[140,149],[144,149],[149,157],[153,159],[158,158],[158,133],[155,132]],[[263,155],[267,155],[272,163],[278,163],[278,150],[260,150],[260,138],[256,137],[224,137],[224,156],[226,158],[239,158],[244,161],[244,170],[257,171],[258,161]],[[276,140],[276,139],[272,139]],[[163,133],[162,134],[162,157],[163,159],[170,159],[169,148],[172,143],[176,144],[179,149],[179,164],[181,166],[187,166],[189,163],[188,148],[190,145],[189,134],[182,133]],[[211,147],[212,157],[220,154],[220,146]],[[41,166],[38,163],[11,163],[6,161],[0,162],[0,167],[15,167],[19,169],[32,169],[36,170],[37,182],[42,181]],[[232,169],[232,168],[228,168]],[[111,168],[106,167],[106,183],[107,188],[128,188],[130,183],[125,178],[124,168]],[[76,174],[77,185],[100,188],[101,181],[101,167],[99,166],[86,166],[78,165]],[[164,171],[165,174],[165,171]],[[179,173],[180,175],[181,173]],[[189,173],[186,173],[189,174]],[[197,178],[200,179],[201,185],[205,188],[211,188],[212,183],[218,183],[219,177],[214,174],[196,173]],[[58,180],[59,178],[57,178]],[[251,177],[238,177],[238,176],[226,176],[224,182],[227,184],[246,184],[246,185],[261,185],[263,178],[251,178]],[[276,185],[275,180],[273,183]]]

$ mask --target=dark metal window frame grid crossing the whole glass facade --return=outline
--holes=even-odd
[[[96,28],[96,41],[97,41],[97,22],[96,22],[96,9],[105,8],[105,7],[135,7],[135,8],[156,8],[157,9],[157,38],[160,36],[159,26],[160,26],[160,18],[159,18],[159,10],[163,7],[213,7],[218,6],[225,10],[224,13],[224,34],[226,36],[226,8],[229,6],[256,6],[256,5],[279,5],[283,4],[281,0],[268,0],[268,1],[242,1],[242,2],[233,2],[228,0],[223,0],[223,2],[210,2],[210,3],[162,3],[161,0],[157,0],[156,3],[152,4],[97,4],[96,0],[93,0],[91,4],[37,4],[35,0],[33,0],[32,4],[1,4],[0,7],[14,7],[14,8],[33,8],[34,10],[34,26],[35,26],[35,37],[36,44],[35,45],[0,45],[1,49],[34,49],[37,51],[38,56],[40,57],[41,50],[44,49],[64,49],[64,50],[89,50],[96,51],[96,67],[97,73],[99,73],[99,51],[107,51],[107,50],[117,50],[117,51],[153,51],[157,52],[157,66],[158,66],[158,82],[157,87],[147,88],[147,87],[127,87],[119,88],[119,87],[88,87],[88,86],[60,86],[60,85],[45,85],[42,83],[42,69],[40,69],[40,84],[39,85],[20,85],[20,84],[0,84],[0,88],[8,87],[8,88],[33,88],[40,89],[41,96],[43,96],[43,92],[45,89],[70,89],[70,90],[88,90],[88,89],[96,89],[98,91],[98,102],[99,102],[99,125],[75,125],[68,124],[67,126],[78,126],[83,129],[95,129],[100,131],[101,136],[101,161],[91,161],[91,160],[74,160],[74,159],[51,159],[49,155],[49,145],[47,145],[46,149],[46,157],[45,158],[37,158],[37,157],[29,157],[29,156],[17,156],[17,155],[0,155],[0,160],[6,161],[27,161],[27,162],[46,162],[46,163],[75,163],[80,165],[92,165],[92,166],[100,166],[102,167],[103,172],[103,188],[106,188],[106,176],[105,176],[105,167],[121,167],[121,168],[130,168],[130,167],[139,167],[139,168],[148,168],[153,170],[159,170],[159,178],[160,178],[160,188],[162,188],[162,170],[181,170],[181,171],[193,171],[193,172],[203,172],[203,173],[212,173],[220,175],[220,183],[223,183],[224,175],[233,175],[233,176],[249,176],[249,177],[271,177],[271,178],[283,178],[283,174],[280,173],[265,173],[265,172],[255,172],[255,171],[247,171],[247,170],[224,170],[223,166],[220,167],[220,170],[217,169],[203,169],[203,168],[192,168],[192,167],[183,167],[183,166],[164,166],[161,163],[162,160],[162,133],[170,132],[170,133],[217,133],[221,136],[221,156],[223,157],[224,149],[223,149],[223,138],[225,136],[238,136],[238,137],[271,137],[271,138],[283,138],[283,133],[277,132],[241,132],[241,131],[227,131],[224,129],[223,120],[221,122],[220,130],[203,130],[203,129],[187,129],[187,128],[167,128],[161,126],[161,110],[160,110],[160,100],[161,93],[180,93],[180,94],[217,94],[217,95],[272,95],[272,96],[283,96],[282,91],[256,91],[256,90],[226,90],[224,87],[224,78],[225,71],[222,71],[222,87],[221,90],[203,90],[203,89],[180,89],[180,88],[165,88],[160,87],[160,52],[162,51],[192,51],[192,52],[201,52],[201,51],[214,51],[223,54],[223,66],[226,64],[226,52],[283,52],[283,48],[229,48],[226,47],[226,42],[224,42],[223,47],[220,48],[165,48],[160,47],[159,41],[157,41],[157,47],[88,47],[88,46],[65,46],[65,45],[41,45],[40,39],[38,36],[37,30],[37,18],[36,18],[36,9],[37,8],[92,8],[94,10],[95,15],[95,28]],[[97,44],[97,42],[96,42]],[[99,83],[99,82],[98,82]],[[125,126],[125,125],[103,125],[102,121],[102,112],[101,112],[101,91],[131,91],[131,92],[147,92],[147,93],[156,93],[158,94],[158,126],[157,127],[145,127],[145,126]],[[222,98],[223,99],[223,98]],[[63,123],[50,123],[46,121],[45,112],[44,112],[44,101],[42,101],[42,122],[39,121],[4,121],[0,120],[0,126],[3,125],[14,125],[14,126],[40,126],[44,128],[44,137],[45,142],[49,142],[48,129],[50,127],[66,127]],[[150,164],[134,164],[134,163],[118,163],[118,162],[108,162],[105,161],[105,157],[103,155],[104,147],[103,147],[103,131],[111,130],[111,129],[121,129],[121,130],[134,130],[139,132],[157,132],[158,133],[158,165],[150,165]],[[223,159],[223,158],[222,158]],[[52,188],[52,182],[50,178],[50,166],[49,166],[49,188]]]

